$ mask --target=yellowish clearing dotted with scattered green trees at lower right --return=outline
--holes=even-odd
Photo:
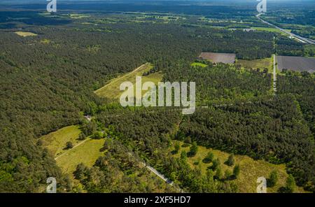
[[[175,143],[180,143],[180,145],[183,145],[183,142],[181,141],[173,141],[173,146]],[[174,147],[171,148],[171,150],[174,150]],[[186,152],[189,151],[189,146],[186,148],[182,148],[179,150],[179,152],[174,155],[175,157],[180,157],[181,151],[185,150]],[[210,164],[205,164],[202,162],[202,159],[207,156],[208,152],[214,153],[214,159],[218,158],[221,162],[221,169],[223,173],[230,169],[230,171],[233,170],[233,166],[227,166],[224,164],[224,162],[228,159],[229,153],[222,152],[220,150],[214,150],[214,149],[207,149],[202,146],[198,147],[198,152],[195,157],[188,157],[187,161],[188,164],[192,168],[199,168],[201,169],[202,173],[206,173],[207,167],[211,166]],[[288,177],[288,174],[286,173],[286,166],[284,164],[276,165],[271,164],[269,162],[265,162],[263,160],[254,160],[251,157],[245,156],[245,155],[235,155],[235,164],[239,164],[241,172],[239,174],[239,178],[237,180],[234,180],[235,183],[237,183],[239,187],[239,192],[256,192],[256,187],[258,184],[256,183],[256,180],[258,177],[265,177],[269,178],[269,173],[271,171],[276,170],[278,172],[279,180],[276,183],[276,186],[274,187],[268,187],[267,192],[277,192],[279,187],[282,187],[286,183],[286,178]],[[298,187],[297,192],[304,192],[302,188]]]

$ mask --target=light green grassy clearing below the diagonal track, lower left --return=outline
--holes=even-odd
[[[64,155],[57,159],[57,165],[64,173],[68,173],[73,178],[73,171],[81,162],[85,166],[92,167],[100,156],[103,155],[101,148],[104,145],[104,139],[89,139],[78,147],[64,152]]]

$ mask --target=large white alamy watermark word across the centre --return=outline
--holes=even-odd
[[[188,100],[188,83],[158,83],[158,89],[155,83],[147,81],[142,84],[141,76],[136,77],[134,85],[126,81],[120,84],[120,91],[125,91],[120,96],[120,105],[126,106],[176,106],[183,107],[183,114],[192,114],[195,112],[196,102],[196,83],[189,83],[189,100]],[[142,95],[143,91],[147,91]],[[134,94],[134,92],[136,94]],[[158,96],[158,97],[157,97]],[[174,103],[174,104],[173,104]]]

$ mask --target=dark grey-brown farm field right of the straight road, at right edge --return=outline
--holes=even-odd
[[[293,71],[315,71],[315,58],[313,57],[293,57],[293,56],[276,56],[278,69],[290,69]]]

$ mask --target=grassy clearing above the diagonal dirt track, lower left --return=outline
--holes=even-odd
[[[48,135],[42,136],[41,140],[43,141],[43,146],[48,148],[52,155],[57,157],[62,153],[66,152],[66,143],[71,141],[73,145],[78,144],[80,141],[77,140],[80,129],[78,126],[69,126],[54,131]]]

